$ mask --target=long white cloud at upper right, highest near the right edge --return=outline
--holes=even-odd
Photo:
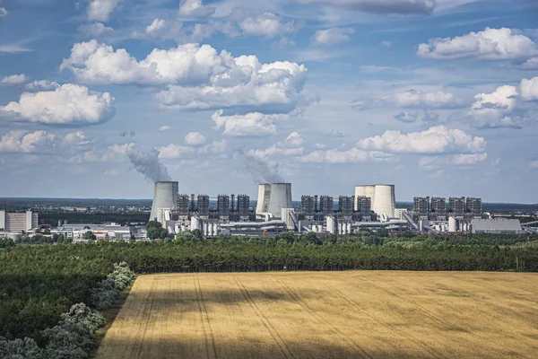
[[[536,43],[511,29],[491,29],[470,32],[463,36],[430,39],[419,45],[417,54],[425,58],[475,58],[483,60],[514,60],[538,53]]]

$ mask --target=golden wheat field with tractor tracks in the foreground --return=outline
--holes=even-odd
[[[538,275],[138,276],[98,358],[538,357]]]

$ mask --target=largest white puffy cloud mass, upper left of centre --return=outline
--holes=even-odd
[[[153,49],[137,61],[125,49],[96,40],[75,44],[61,69],[86,83],[170,84],[158,94],[164,106],[219,109],[232,106],[280,105],[294,109],[307,69],[287,61],[262,64],[255,56],[231,57],[209,45]]]

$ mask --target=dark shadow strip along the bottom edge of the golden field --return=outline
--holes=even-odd
[[[241,333],[238,333],[240,336]],[[368,345],[335,346],[328,343],[298,342],[292,338],[284,338],[284,344],[277,343],[267,345],[254,341],[228,341],[226,343],[216,341],[214,346],[208,341],[178,337],[175,340],[158,339],[152,340],[147,337],[140,341],[122,340],[120,338],[108,338],[100,346],[96,358],[99,359],[426,359],[431,355],[405,353],[400,351],[379,351],[369,348]],[[387,344],[387,347],[389,345]]]

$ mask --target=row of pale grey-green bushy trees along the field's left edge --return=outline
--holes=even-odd
[[[100,311],[114,305],[117,293],[134,281],[134,272],[125,262],[114,265],[114,270],[92,289],[91,304],[74,304],[61,314],[52,328],[39,331],[39,337],[0,337],[0,359],[78,359],[87,358],[95,345],[95,332],[105,325]],[[106,283],[106,285],[102,285]],[[99,310],[99,311],[98,311]],[[21,314],[21,313],[19,313]],[[39,345],[40,343],[40,345]]]

